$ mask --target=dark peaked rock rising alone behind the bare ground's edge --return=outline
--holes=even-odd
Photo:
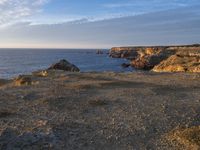
[[[48,68],[48,70],[64,70],[64,71],[70,71],[70,72],[79,72],[80,69],[75,66],[74,64],[71,64],[65,59],[60,60],[58,63],[53,64],[51,67]]]

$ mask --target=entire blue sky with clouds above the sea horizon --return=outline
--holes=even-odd
[[[200,0],[0,0],[0,48],[200,43]]]

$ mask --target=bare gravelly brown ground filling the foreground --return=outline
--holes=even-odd
[[[0,149],[199,149],[200,74],[30,77],[0,80]]]

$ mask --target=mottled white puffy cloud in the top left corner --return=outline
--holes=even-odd
[[[47,0],[0,0],[0,26],[20,22],[41,11]]]

